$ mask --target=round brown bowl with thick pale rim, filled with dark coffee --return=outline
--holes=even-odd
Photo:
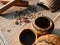
[[[50,34],[54,29],[53,21],[46,16],[36,18],[32,25],[38,35]]]

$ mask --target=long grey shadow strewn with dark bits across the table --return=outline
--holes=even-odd
[[[20,15],[30,15],[32,13],[37,13],[39,11],[44,11],[44,10],[46,10],[46,9],[44,9],[40,6],[31,5],[31,6],[28,6],[26,9],[15,11],[10,14],[2,14],[2,17],[6,18],[6,19],[14,19],[15,17],[18,17]]]

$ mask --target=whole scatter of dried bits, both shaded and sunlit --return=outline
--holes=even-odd
[[[37,13],[39,9],[40,7],[37,5],[30,5],[26,9],[14,12],[15,18],[17,18],[15,24],[30,23],[31,19],[36,17],[35,13]]]

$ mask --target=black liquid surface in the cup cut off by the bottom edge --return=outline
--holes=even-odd
[[[35,34],[31,30],[27,29],[27,30],[22,31],[19,38],[22,44],[32,45],[36,37],[35,37]]]

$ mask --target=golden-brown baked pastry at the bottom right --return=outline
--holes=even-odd
[[[47,34],[39,37],[35,45],[60,45],[60,39],[55,34]]]

